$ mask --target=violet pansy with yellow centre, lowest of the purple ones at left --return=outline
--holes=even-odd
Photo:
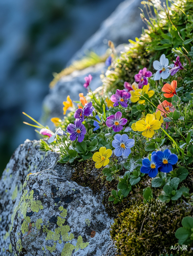
[[[81,120],[78,118],[74,121],[74,124],[70,123],[68,125],[67,131],[71,133],[70,139],[74,141],[78,137],[78,142],[83,141],[84,135],[87,132]]]

